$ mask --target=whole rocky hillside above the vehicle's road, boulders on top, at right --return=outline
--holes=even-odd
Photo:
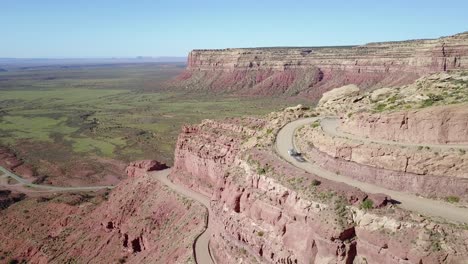
[[[323,122],[316,123],[300,129],[296,142],[322,167],[359,181],[466,202],[466,76],[466,71],[433,74],[372,92],[337,88],[324,94],[317,111],[338,115],[344,133],[330,134]],[[443,144],[448,145],[438,147]]]

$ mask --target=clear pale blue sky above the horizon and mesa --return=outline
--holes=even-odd
[[[467,30],[467,0],[0,0],[0,57],[186,56]]]

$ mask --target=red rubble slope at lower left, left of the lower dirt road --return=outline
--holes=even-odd
[[[0,212],[0,262],[194,263],[205,218],[151,175],[110,193],[27,198]]]

